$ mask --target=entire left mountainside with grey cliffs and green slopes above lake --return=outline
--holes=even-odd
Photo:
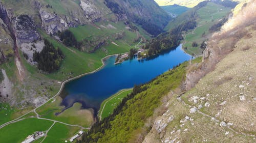
[[[158,35],[170,19],[152,0],[4,0],[0,17],[0,67],[13,71],[7,72],[10,88],[3,88],[1,101],[22,107],[52,97],[59,88],[53,80],[95,70],[104,56],[127,52]],[[63,55],[49,61],[44,56],[39,60],[38,54],[35,58],[46,45]]]

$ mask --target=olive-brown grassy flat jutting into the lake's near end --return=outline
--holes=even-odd
[[[56,112],[61,112],[64,106],[60,106],[62,99],[56,97],[55,100],[50,100],[45,105],[36,110],[41,118],[52,119],[67,124],[80,125],[89,127],[93,123],[93,113],[87,109],[81,109],[80,103],[75,103],[71,108],[63,111],[56,116]]]

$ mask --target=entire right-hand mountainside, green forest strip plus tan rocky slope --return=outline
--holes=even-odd
[[[202,58],[136,86],[79,142],[254,142],[254,9],[230,17]]]

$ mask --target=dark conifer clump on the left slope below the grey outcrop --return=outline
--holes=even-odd
[[[33,61],[37,62],[39,70],[52,73],[59,69],[62,59],[65,55],[57,48],[55,49],[52,43],[45,39],[45,46],[41,52],[34,52]]]

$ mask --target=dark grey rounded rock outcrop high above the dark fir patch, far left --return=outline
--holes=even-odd
[[[18,43],[30,43],[40,38],[36,32],[36,25],[29,15],[19,15],[16,17],[14,28]]]

